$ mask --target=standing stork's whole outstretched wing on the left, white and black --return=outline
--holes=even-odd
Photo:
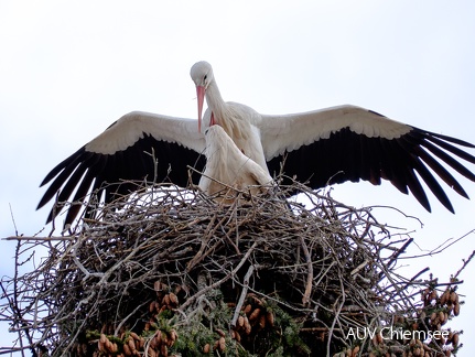
[[[55,166],[41,186],[50,183],[37,208],[60,192],[57,206],[50,212],[54,219],[71,199],[83,202],[89,192],[105,202],[136,191],[133,182],[170,182],[186,186],[187,165],[202,171],[205,140],[196,120],[133,111],[117,120],[106,131]],[[156,164],[155,164],[156,162]],[[199,177],[193,176],[197,184]],[[82,205],[69,206],[65,225],[71,224]]]

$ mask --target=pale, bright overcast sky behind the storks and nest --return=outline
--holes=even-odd
[[[50,206],[35,210],[43,177],[122,115],[196,118],[190,67],[201,60],[225,100],[262,113],[353,104],[475,142],[474,18],[471,1],[0,0],[0,237],[45,227]],[[460,182],[475,198],[475,183]],[[375,212],[412,231],[414,255],[468,234],[441,255],[401,261],[408,277],[430,267],[449,280],[475,250],[475,201],[449,193],[452,215],[430,196],[428,214],[389,184],[332,190],[347,205],[421,219]],[[14,242],[0,249],[0,275],[11,275]],[[457,356],[475,353],[474,264],[460,277],[467,303],[452,323],[465,331]],[[15,338],[6,329],[0,346]]]

